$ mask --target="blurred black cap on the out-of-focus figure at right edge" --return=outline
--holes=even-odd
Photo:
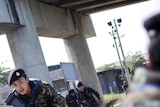
[[[158,36],[160,34],[160,13],[145,20],[144,27],[151,38]]]

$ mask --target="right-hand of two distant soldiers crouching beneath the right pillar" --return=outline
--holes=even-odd
[[[78,87],[78,95],[80,99],[80,103],[84,107],[99,107],[99,104],[102,104],[102,100],[100,98],[99,93],[92,89],[91,87],[85,86],[82,82],[77,84]],[[94,98],[93,94],[97,97],[98,103]]]

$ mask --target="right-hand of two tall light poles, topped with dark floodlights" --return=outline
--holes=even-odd
[[[124,67],[124,69],[125,69],[125,75],[126,75],[126,78],[127,78],[128,83],[130,84],[130,83],[131,83],[131,79],[130,79],[130,76],[129,76],[129,70],[128,70],[128,67],[127,67],[127,65],[126,65],[126,59],[125,59],[125,56],[124,56],[124,52],[123,52],[123,48],[122,48],[122,44],[121,44],[121,40],[120,40],[118,28],[117,28],[117,26],[120,26],[120,25],[121,25],[122,19],[121,19],[121,18],[120,18],[120,19],[117,19],[117,22],[116,22],[116,20],[114,19],[113,22],[114,22],[114,25],[112,25],[112,22],[108,22],[108,26],[110,26],[110,27],[112,28],[112,32],[115,31],[116,34],[117,34],[117,39],[118,39],[118,41],[119,41],[120,49],[121,49],[122,57],[123,57],[123,67]],[[118,52],[117,52],[117,53],[118,53]],[[118,53],[118,56],[119,56],[119,53]],[[119,60],[120,60],[120,58],[119,58]],[[120,60],[120,64],[122,64],[122,63],[121,63],[121,60]]]

